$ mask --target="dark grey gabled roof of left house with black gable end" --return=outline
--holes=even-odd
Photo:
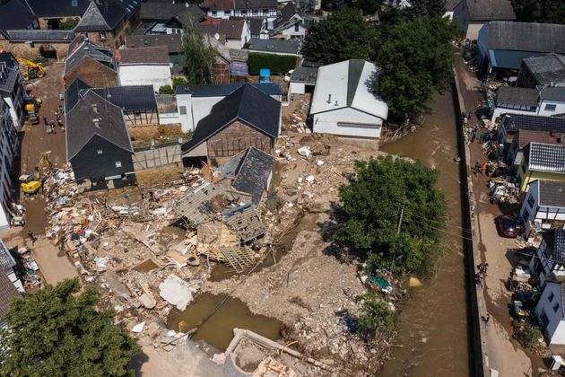
[[[98,110],[95,112],[94,106]],[[96,127],[94,119],[99,119]],[[66,159],[70,161],[87,145],[93,136],[100,136],[125,151],[134,153],[122,110],[105,101],[95,92],[88,91],[66,113]]]

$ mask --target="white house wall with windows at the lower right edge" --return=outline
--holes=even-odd
[[[550,297],[552,300],[550,301]],[[557,311],[553,309],[557,304]],[[561,285],[549,283],[543,288],[543,293],[535,305],[535,315],[541,322],[542,313],[545,313],[549,323],[545,327],[545,332],[551,338],[552,345],[565,344],[565,322],[563,320],[563,308],[561,308]]]

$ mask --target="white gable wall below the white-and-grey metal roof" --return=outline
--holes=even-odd
[[[373,127],[338,126],[338,123],[363,124]],[[383,119],[352,108],[314,114],[313,131],[337,136],[380,138]]]

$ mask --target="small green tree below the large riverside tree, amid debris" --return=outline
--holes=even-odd
[[[357,319],[357,325],[363,337],[372,338],[377,331],[389,332],[395,329],[395,312],[373,291],[358,295],[355,301],[361,302],[361,315]]]

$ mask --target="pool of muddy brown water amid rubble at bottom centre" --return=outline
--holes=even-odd
[[[167,318],[167,327],[178,331],[181,320],[187,322],[187,329],[194,329],[196,324],[207,317],[224,296],[216,294],[198,294],[185,311],[173,309]],[[208,344],[224,351],[233,338],[233,328],[250,329],[266,338],[281,338],[282,322],[274,318],[253,314],[248,306],[236,299],[229,298],[214,315],[198,328],[192,339],[204,340]]]

